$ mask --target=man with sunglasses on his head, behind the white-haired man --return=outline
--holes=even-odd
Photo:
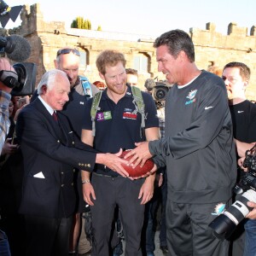
[[[84,113],[87,100],[99,90],[95,84],[90,84],[87,78],[79,76],[79,64],[80,53],[78,49],[63,48],[57,51],[55,68],[67,73],[67,78],[71,86],[68,95],[69,101],[65,104],[62,113],[67,116],[73,127],[73,131],[80,137],[83,121],[81,113]],[[75,183],[77,184],[79,199],[81,198],[82,200],[79,200],[78,212],[74,216],[73,230],[70,237],[70,254],[75,253],[78,243],[79,254],[84,254],[90,251],[90,242],[87,241],[84,234],[84,218],[82,218],[83,223],[81,229],[81,213],[89,212],[90,208],[83,200],[80,172],[76,172]],[[80,229],[81,236],[79,238]]]

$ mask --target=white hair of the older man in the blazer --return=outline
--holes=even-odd
[[[55,84],[55,80],[57,77],[62,76],[67,78],[67,73],[59,69],[51,69],[48,72],[44,73],[41,81],[38,84],[38,95],[43,93],[42,86],[46,85],[46,87],[51,90]]]

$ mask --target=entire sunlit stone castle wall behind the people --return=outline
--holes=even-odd
[[[21,26],[16,33],[25,37],[32,45],[32,55],[27,61],[37,64],[37,83],[43,73],[54,68],[57,49],[76,47],[87,53],[87,67],[81,67],[81,74],[86,75],[91,82],[100,80],[96,69],[96,56],[103,49],[118,49],[125,54],[126,67],[133,66],[134,55],[143,54],[148,57],[148,73],[139,75],[139,83],[143,88],[145,79],[165,79],[157,71],[155,61],[154,38],[143,38],[141,35],[84,31],[66,29],[64,22],[45,22],[39,4],[26,6],[21,12]],[[241,61],[251,68],[252,77],[247,88],[247,97],[256,99],[256,29],[230,23],[227,35],[216,32],[215,25],[207,23],[206,30],[190,28],[190,36],[195,44],[195,63],[201,69],[207,69],[210,62],[220,68],[230,61]],[[90,68],[88,68],[90,67]],[[86,71],[85,71],[86,69]]]

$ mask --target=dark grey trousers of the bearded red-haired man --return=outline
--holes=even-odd
[[[125,234],[125,256],[140,256],[144,205],[138,199],[144,179],[131,181],[125,177],[92,175],[96,193],[92,215],[92,256],[108,256],[113,224],[113,212],[119,207]]]

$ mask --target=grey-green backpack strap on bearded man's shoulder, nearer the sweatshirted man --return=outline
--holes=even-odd
[[[143,137],[143,131],[145,128],[145,104],[143,102],[142,91],[137,86],[131,86],[133,101],[136,110],[142,115],[142,124],[141,124],[141,137]]]

